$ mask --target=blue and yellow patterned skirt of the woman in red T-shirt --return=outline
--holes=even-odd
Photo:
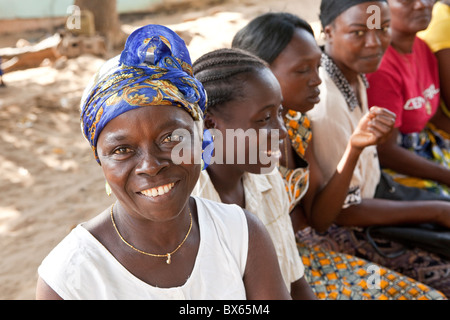
[[[427,124],[422,132],[401,135],[400,145],[450,169],[450,134],[437,129],[431,123]],[[403,185],[426,189],[441,196],[450,197],[449,186],[432,180],[405,176],[390,169],[384,169],[384,171]]]

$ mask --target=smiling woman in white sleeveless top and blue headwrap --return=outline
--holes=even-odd
[[[83,133],[117,202],[45,258],[37,299],[289,299],[261,222],[191,197],[206,95],[184,41],[142,27],[86,90]]]

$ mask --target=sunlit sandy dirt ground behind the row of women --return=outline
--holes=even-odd
[[[150,15],[123,24],[127,33],[164,24],[185,38],[194,61],[268,11],[295,13],[318,30],[309,0],[228,0],[201,10]],[[23,36],[23,35],[22,35]],[[75,225],[114,202],[84,140],[79,101],[104,62],[83,55],[4,75],[0,88],[0,299],[34,299],[37,268]]]

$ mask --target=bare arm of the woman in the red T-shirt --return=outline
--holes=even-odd
[[[450,169],[434,163],[397,144],[400,134],[394,129],[386,142],[378,145],[381,166],[408,176],[429,179],[450,187]]]

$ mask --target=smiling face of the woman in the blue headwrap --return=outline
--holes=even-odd
[[[179,129],[191,137],[174,134]],[[201,153],[194,130],[191,116],[175,106],[133,109],[105,126],[97,142],[99,159],[108,184],[129,214],[168,221],[181,212],[201,170],[194,161]],[[191,151],[192,161],[175,165],[172,149],[186,138],[192,149],[185,147],[184,152]]]

